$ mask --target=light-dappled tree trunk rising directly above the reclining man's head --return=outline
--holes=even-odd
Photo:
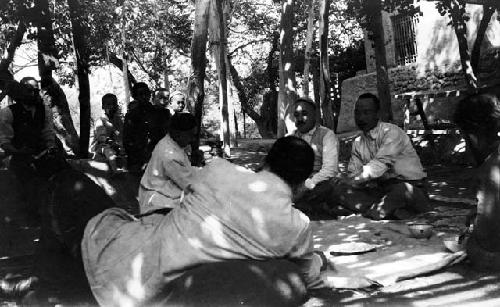
[[[295,71],[293,69],[293,2],[281,0],[280,21],[280,90],[278,95],[278,137],[293,129],[290,102],[296,98]]]

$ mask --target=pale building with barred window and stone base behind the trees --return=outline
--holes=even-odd
[[[421,14],[401,16],[383,12],[387,64],[389,67],[394,122],[403,125],[410,101],[420,99],[431,124],[446,123],[453,114],[454,103],[467,88],[461,70],[458,40],[441,16],[435,1],[420,1]],[[467,5],[469,51],[472,50],[483,6]],[[479,85],[500,88],[500,22],[495,13],[481,46]],[[342,83],[342,104],[338,132],[356,129],[354,103],[365,92],[377,93],[373,42],[365,33],[366,71]]]

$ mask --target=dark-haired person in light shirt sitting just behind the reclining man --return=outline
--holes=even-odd
[[[179,205],[182,191],[195,172],[185,151],[195,135],[196,120],[193,115],[176,113],[172,116],[169,133],[156,145],[141,179],[141,213]]]

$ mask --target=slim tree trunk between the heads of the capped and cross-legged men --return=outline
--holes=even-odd
[[[328,61],[328,9],[330,0],[320,0],[319,18],[319,82],[320,103],[323,115],[323,125],[334,129],[333,108],[330,101],[330,67]]]

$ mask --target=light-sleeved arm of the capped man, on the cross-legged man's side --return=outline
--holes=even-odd
[[[337,136],[328,131],[323,137],[323,164],[319,172],[306,181],[306,186],[314,187],[316,184],[335,177],[339,165],[339,143]]]

